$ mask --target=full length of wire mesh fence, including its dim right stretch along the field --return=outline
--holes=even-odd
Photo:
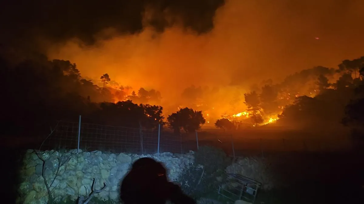
[[[350,140],[246,139],[230,134],[198,139],[198,134],[174,134],[159,128],[146,130],[119,126],[60,121],[43,142],[41,150],[81,149],[83,151],[128,152],[155,154],[186,153],[198,146],[214,146],[230,156],[267,155],[287,151],[351,150]]]

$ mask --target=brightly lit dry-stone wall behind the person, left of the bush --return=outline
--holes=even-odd
[[[106,188],[95,196],[101,200],[117,200],[118,188],[123,176],[128,172],[132,162],[142,157],[150,157],[161,161],[168,170],[169,179],[177,180],[183,169],[194,161],[193,152],[189,154],[162,153],[157,155],[112,154],[100,151],[75,153],[46,151],[39,152],[45,160],[44,177],[46,178],[55,199],[78,195],[86,195],[91,191],[92,179],[95,178],[94,189],[100,189],[103,183]],[[23,168],[20,171],[20,198],[17,203],[47,203],[47,188],[42,177],[43,161],[33,152],[27,151]],[[59,163],[64,163],[59,167]],[[58,173],[57,173],[58,172]]]

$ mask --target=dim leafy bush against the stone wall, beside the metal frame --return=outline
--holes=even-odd
[[[225,168],[231,160],[219,148],[202,146],[195,152],[193,166],[186,169],[179,183],[183,192],[199,199],[217,193],[221,181],[225,180]]]

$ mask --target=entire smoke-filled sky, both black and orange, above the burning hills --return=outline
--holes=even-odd
[[[5,24],[25,35],[14,39],[37,36],[49,58],[76,63],[83,77],[108,73],[120,85],[161,91],[164,101],[179,101],[191,85],[220,87],[216,101],[233,98],[231,85],[277,83],[363,55],[361,0],[26,2],[13,8],[27,17]]]

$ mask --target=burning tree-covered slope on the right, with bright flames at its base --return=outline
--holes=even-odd
[[[280,126],[335,128],[335,125],[350,125],[355,126],[358,134],[364,127],[363,75],[364,57],[361,57],[344,60],[338,69],[318,66],[302,70],[279,84],[267,80],[261,87],[255,85],[244,94],[248,107],[244,116],[247,117],[227,115],[215,126],[233,130],[249,121],[258,126],[276,116],[274,120]]]

